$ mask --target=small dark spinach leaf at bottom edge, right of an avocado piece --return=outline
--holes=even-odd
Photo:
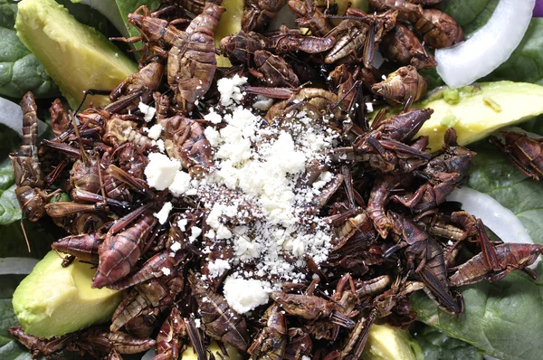
[[[446,336],[435,327],[423,326],[417,329],[414,338],[423,349],[424,360],[482,360],[479,349],[461,340]]]

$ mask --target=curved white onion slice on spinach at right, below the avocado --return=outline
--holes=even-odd
[[[462,203],[463,210],[481,219],[503,242],[535,243],[519,218],[488,194],[463,186],[455,189],[447,200]],[[530,268],[534,268],[538,261]]]

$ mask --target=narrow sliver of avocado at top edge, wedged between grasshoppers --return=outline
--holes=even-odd
[[[238,33],[242,30],[242,16],[245,0],[224,0],[222,6],[226,11],[221,16],[219,24],[214,31],[215,47],[219,48],[221,40],[233,33]],[[232,62],[223,55],[215,55],[217,66],[220,68],[229,68]]]

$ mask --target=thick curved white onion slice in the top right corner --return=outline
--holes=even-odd
[[[477,81],[519,46],[536,0],[500,0],[487,24],[465,42],[435,51],[437,73],[452,89]]]

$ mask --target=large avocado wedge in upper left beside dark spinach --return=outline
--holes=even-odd
[[[112,90],[138,71],[104,35],[79,23],[54,0],[21,1],[15,29],[73,109],[84,90]],[[95,106],[110,102],[106,96],[90,96],[87,103],[90,100]]]

